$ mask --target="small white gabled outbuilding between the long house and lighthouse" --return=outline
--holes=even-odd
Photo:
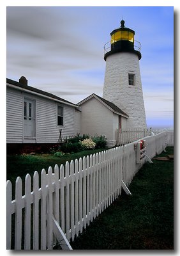
[[[104,135],[108,147],[116,145],[117,129],[126,129],[128,115],[95,93],[77,105],[81,109],[81,133],[90,136]]]

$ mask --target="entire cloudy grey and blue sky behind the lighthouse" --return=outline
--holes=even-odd
[[[125,20],[142,44],[148,127],[173,126],[173,7],[7,7],[7,77],[77,103],[102,96],[103,46]]]

